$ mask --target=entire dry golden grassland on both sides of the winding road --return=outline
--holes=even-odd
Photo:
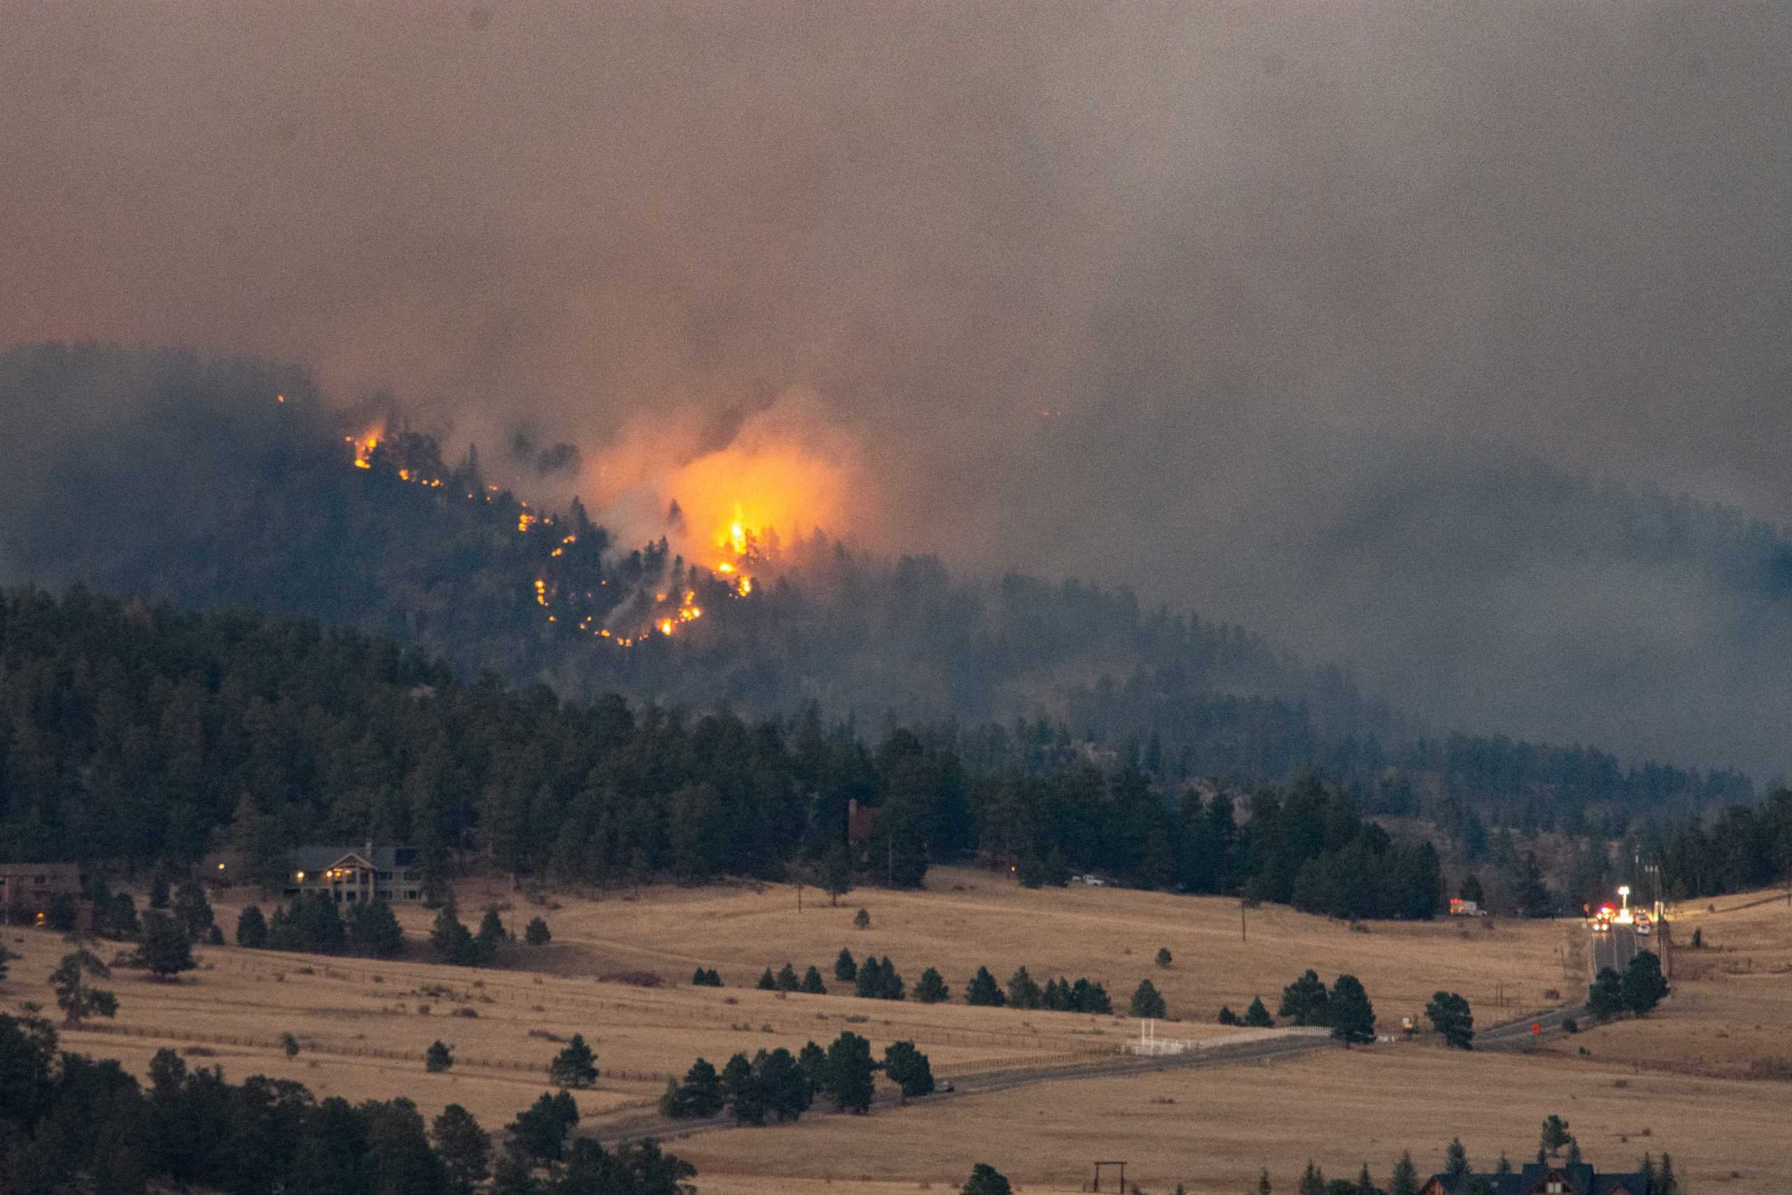
[[[484,971],[201,948],[202,969],[179,984],[120,971],[116,1025],[66,1032],[65,1045],[118,1057],[138,1073],[158,1046],[172,1045],[195,1064],[222,1066],[229,1079],[281,1075],[321,1096],[409,1095],[425,1114],[459,1102],[495,1129],[547,1089],[545,1066],[559,1048],[552,1037],[582,1032],[604,1077],[595,1091],[581,1093],[581,1107],[588,1123],[602,1125],[643,1116],[667,1075],[699,1053],[720,1064],[735,1052],[826,1043],[842,1028],[867,1036],[878,1050],[912,1037],[941,1077],[1093,1059],[1138,1032],[1129,1018],[778,996],[751,987],[767,964],[785,960],[797,971],[814,962],[831,985],[840,946],[860,959],[889,955],[909,984],[937,966],[955,1000],[978,964],[1004,982],[1020,964],[1041,982],[1088,975],[1107,984],[1120,1009],[1149,976],[1172,1016],[1186,1018],[1159,1034],[1181,1037],[1224,1036],[1211,1023],[1220,1003],[1242,1012],[1262,994],[1274,1009],[1281,985],[1308,966],[1326,982],[1340,971],[1358,975],[1383,1027],[1419,1012],[1437,987],[1466,994],[1487,1025],[1500,1019],[1498,993],[1516,1005],[1505,1012],[1516,1012],[1548,1003],[1550,989],[1575,998],[1584,984],[1579,923],[1439,921],[1374,924],[1360,933],[1265,907],[1245,914],[1240,941],[1236,901],[1115,889],[1029,892],[969,869],[934,871],[926,892],[851,892],[837,908],[810,889],[801,912],[796,890],[780,885],[667,887],[600,899],[556,894],[547,905],[530,905],[507,887],[461,890],[470,923],[487,901],[504,907],[513,930],[539,912],[554,942],[514,946],[505,967]],[[995,1163],[1027,1190],[1079,1190],[1097,1156],[1133,1161],[1147,1191],[1172,1190],[1177,1181],[1192,1191],[1244,1191],[1263,1165],[1279,1179],[1278,1190],[1292,1186],[1308,1154],[1328,1174],[1355,1175],[1367,1159],[1382,1175],[1410,1147],[1423,1166],[1455,1132],[1477,1154],[1503,1147],[1518,1159],[1534,1148],[1536,1123],[1557,1111],[1595,1159],[1609,1148],[1615,1161],[1629,1163],[1643,1148],[1665,1147],[1713,1184],[1719,1170],[1740,1172],[1724,1181],[1726,1190],[1781,1190],[1762,1175],[1774,1172],[1772,1154],[1785,1138],[1776,1127],[1792,1111],[1792,1086],[1719,1077],[1738,1073],[1733,1062],[1763,1052],[1776,1036],[1785,1039],[1792,1027],[1788,978],[1774,975],[1792,960],[1792,932],[1770,907],[1733,908],[1742,903],[1719,901],[1717,914],[1686,917],[1681,941],[1699,921],[1711,950],[1679,953],[1676,998],[1656,1018],[1584,1032],[1530,1057],[1443,1053],[1423,1045],[1328,1050],[1269,1066],[1039,1084],[871,1118],[810,1114],[794,1127],[692,1136],[674,1148],[697,1161],[704,1191],[731,1195],[955,1190],[973,1161]],[[219,901],[226,932],[238,907]],[[871,914],[864,932],[851,924],[860,907]],[[414,939],[426,933],[428,912],[400,916]],[[16,1009],[36,1000],[54,1010],[43,976],[66,946],[34,930],[5,933],[23,959],[0,985],[0,1003]],[[1159,946],[1174,955],[1168,969],[1154,964]],[[102,946],[102,953],[111,950]],[[419,941],[414,955],[423,953]],[[688,987],[697,966],[717,967],[728,987]],[[1726,966],[1754,971],[1727,975]],[[631,971],[656,973],[667,985],[602,978]],[[1710,973],[1686,978],[1702,971]],[[1744,1023],[1762,1028],[1744,1039]],[[283,1032],[301,1043],[296,1059],[280,1050]],[[1706,1034],[1731,1043],[1724,1055],[1731,1062],[1706,1048],[1704,1075],[1638,1071],[1638,1062],[1684,1061],[1688,1043],[1708,1046]],[[423,1071],[423,1052],[435,1039],[457,1053],[446,1075]],[[1620,1141],[1624,1134],[1631,1141]],[[1778,1174],[1792,1166],[1779,1163]]]

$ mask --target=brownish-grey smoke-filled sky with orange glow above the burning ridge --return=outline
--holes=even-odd
[[[1788,61],[1760,2],[0,2],[0,342],[299,360],[624,520],[747,487],[1713,756],[1538,690],[1699,595],[1382,577],[1527,457],[1792,520]]]

